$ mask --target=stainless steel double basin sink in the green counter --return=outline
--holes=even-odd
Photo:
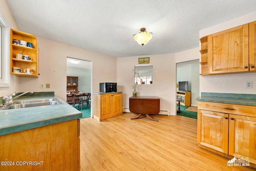
[[[21,101],[13,101],[11,105],[3,107],[2,110],[22,109],[27,107],[39,107],[39,106],[58,105],[58,104],[63,104],[63,103],[56,98],[38,99],[38,100],[21,100]]]

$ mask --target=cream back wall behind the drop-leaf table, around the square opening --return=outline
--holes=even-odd
[[[154,81],[153,84],[138,85],[137,95],[160,97],[160,110],[168,110],[170,115],[176,115],[176,63],[173,54],[117,58],[117,84],[118,91],[123,92],[123,107],[129,111],[131,85],[134,84],[132,70],[139,65],[138,58],[145,57],[149,57],[149,64],[153,65]],[[167,89],[164,89],[165,86]]]

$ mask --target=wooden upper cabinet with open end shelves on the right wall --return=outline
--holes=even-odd
[[[255,30],[252,22],[201,38],[200,75],[255,71]]]

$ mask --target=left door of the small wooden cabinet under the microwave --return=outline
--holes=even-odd
[[[111,116],[111,105],[112,105],[112,100],[111,100],[111,94],[104,94],[101,95],[101,113],[100,117],[107,117]]]

